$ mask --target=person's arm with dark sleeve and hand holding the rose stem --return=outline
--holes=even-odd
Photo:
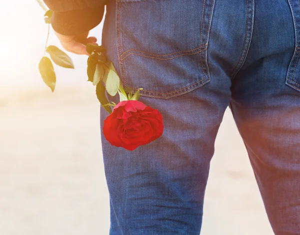
[[[102,20],[107,0],[44,0],[53,12],[51,25],[62,47],[75,54],[85,54],[86,43],[95,43],[96,38],[87,38],[89,30]]]

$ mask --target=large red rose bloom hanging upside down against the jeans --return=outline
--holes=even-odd
[[[163,131],[162,115],[140,101],[119,102],[104,120],[103,134],[111,145],[133,150],[157,139]]]

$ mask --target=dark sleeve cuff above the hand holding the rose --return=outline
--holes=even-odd
[[[91,30],[102,20],[107,0],[44,0],[52,10],[51,25],[59,34],[73,36]]]

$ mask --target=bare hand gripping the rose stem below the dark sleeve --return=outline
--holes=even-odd
[[[94,45],[97,45],[97,39],[95,37],[89,37],[88,32],[76,35],[76,36],[65,36],[58,34],[55,32],[57,38],[59,39],[61,46],[68,52],[72,52],[77,55],[87,55],[87,51],[85,50],[85,45],[88,43],[92,43]]]

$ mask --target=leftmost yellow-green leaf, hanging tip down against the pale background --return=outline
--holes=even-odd
[[[53,92],[55,89],[56,75],[53,69],[52,62],[48,57],[42,57],[38,64],[38,70],[44,83]]]

